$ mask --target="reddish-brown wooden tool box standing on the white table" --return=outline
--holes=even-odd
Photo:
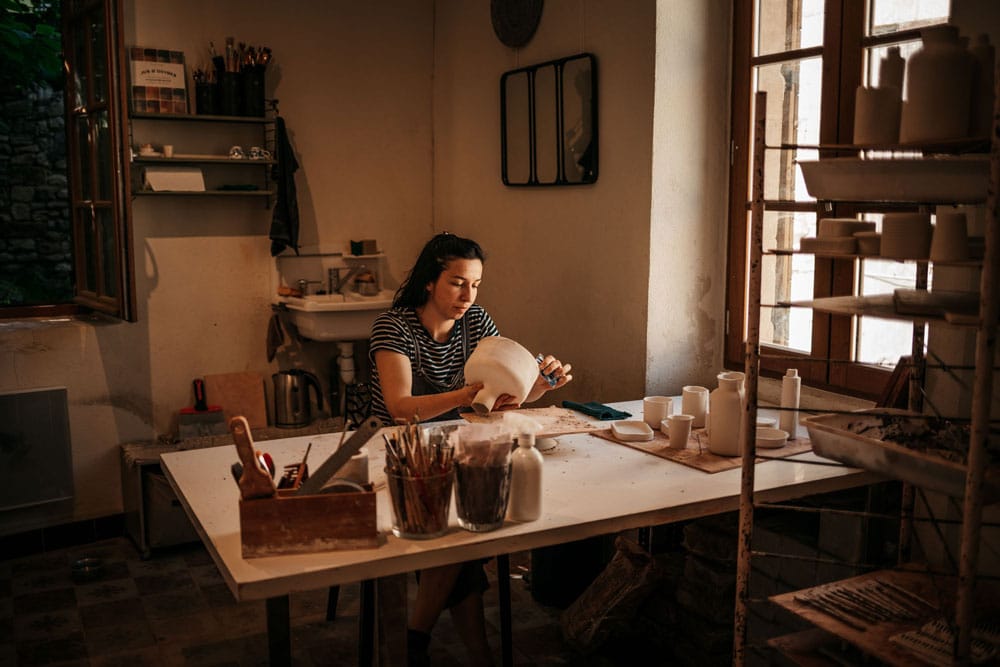
[[[279,490],[274,497],[240,500],[240,538],[244,558],[368,549],[379,544],[375,492],[296,496]]]

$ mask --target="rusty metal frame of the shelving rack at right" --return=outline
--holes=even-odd
[[[1000,84],[1000,76],[997,77]],[[1000,90],[1000,86],[998,86]],[[985,254],[982,262],[979,292],[979,318],[975,325],[975,379],[972,389],[971,437],[966,463],[964,504],[961,521],[961,556],[955,584],[955,626],[958,629],[954,660],[956,664],[968,664],[971,656],[972,626],[975,609],[973,596],[978,570],[980,550],[980,528],[983,512],[984,475],[989,466],[986,451],[990,427],[990,406],[993,388],[993,364],[996,358],[998,310],[1000,310],[1000,94],[997,95],[993,130],[990,144],[990,178],[986,193]],[[754,462],[756,458],[755,429],[759,368],[760,368],[760,309],[761,309],[761,262],[763,252],[763,218],[766,208],[764,199],[764,153],[769,148],[765,141],[766,93],[758,92],[755,100],[755,124],[752,167],[752,195],[750,203],[751,232],[749,247],[749,290],[747,313],[747,340],[744,354],[747,401],[743,427],[747,434],[746,446],[742,452],[742,482],[740,489],[739,539],[737,552],[737,578],[734,620],[733,664],[746,662],[746,642],[748,626],[748,602],[750,602],[750,561],[754,530]],[[787,146],[783,146],[788,148]],[[927,286],[927,262],[918,263],[917,288]],[[858,313],[864,313],[860,309]],[[887,312],[867,312],[865,314],[887,317]],[[907,319],[907,318],[897,318]],[[919,329],[919,332],[918,332]],[[920,395],[913,384],[921,380],[923,355],[923,327],[914,327],[914,368],[911,377],[911,401]],[[913,404],[911,402],[911,407]],[[901,555],[907,526],[908,505],[912,508],[912,488],[904,485],[901,521]],[[850,639],[850,638],[848,638]],[[862,647],[864,650],[865,647]]]

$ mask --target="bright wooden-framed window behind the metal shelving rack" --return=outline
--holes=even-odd
[[[803,237],[816,235],[821,217],[863,217],[878,224],[875,208],[838,204],[820,210],[796,161],[815,159],[820,146],[850,144],[856,88],[877,84],[887,50],[898,46],[907,57],[919,45],[920,28],[946,22],[949,9],[948,0],[736,0],[728,365],[742,366],[744,358],[757,91],[767,92],[767,145],[795,146],[768,150],[764,165],[762,372],[797,366],[810,384],[877,397],[899,357],[910,353],[910,324],[776,304],[913,286],[918,279],[914,265],[767,251],[798,248]]]

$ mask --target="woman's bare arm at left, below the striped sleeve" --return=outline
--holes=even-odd
[[[413,370],[406,356],[391,350],[376,350],[375,365],[378,367],[385,409],[393,419],[406,422],[414,418],[426,421],[449,410],[468,407],[483,388],[482,383],[477,383],[440,394],[414,396]]]

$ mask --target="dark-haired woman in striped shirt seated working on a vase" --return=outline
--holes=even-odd
[[[392,309],[372,325],[372,410],[387,424],[458,418],[482,389],[465,384],[465,361],[486,336],[499,335],[476,295],[483,279],[483,251],[475,241],[438,234],[424,246],[393,299]],[[546,356],[526,401],[573,379],[571,366]],[[516,407],[502,395],[497,408]],[[492,664],[483,618],[486,576],[478,562],[456,563],[420,573],[407,640],[411,664],[426,660],[430,632],[441,612],[451,611],[471,664]]]

